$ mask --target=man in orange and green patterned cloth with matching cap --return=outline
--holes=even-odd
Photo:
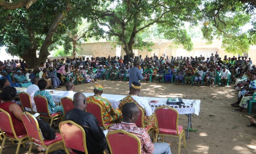
[[[93,92],[94,96],[87,97],[87,102],[94,101],[101,106],[104,122],[120,122],[122,119],[121,110],[114,109],[107,99],[101,97],[103,86],[101,84],[95,85]]]

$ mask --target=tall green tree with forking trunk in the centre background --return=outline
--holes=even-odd
[[[191,50],[191,39],[183,28],[183,22],[197,22],[200,4],[200,0],[103,0],[94,8],[91,19],[99,27],[106,27],[105,33],[110,38],[116,37],[130,56],[134,55],[136,43],[138,46],[149,45],[138,34],[154,24],[165,33],[165,38]]]

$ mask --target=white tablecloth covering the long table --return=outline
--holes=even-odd
[[[19,91],[27,91],[26,88],[17,88]],[[60,91],[60,90],[46,90],[46,91],[53,91],[53,101],[54,102],[60,102],[60,99],[62,98],[62,95],[66,91]],[[83,94],[88,97],[88,96],[93,96],[94,93],[86,93],[83,92]],[[125,97],[126,95],[113,95],[113,94],[102,94],[101,97],[106,98],[112,105],[113,108],[118,108],[118,105],[120,101]],[[156,107],[164,106],[167,105],[166,101],[167,98],[160,98],[160,97],[145,97],[148,102],[152,100],[159,100],[158,103],[149,103],[152,112],[154,113],[154,110]],[[181,105],[167,105],[170,107],[175,108],[178,110],[179,114],[196,114],[199,115],[200,112],[200,100],[187,100],[187,99],[182,99],[183,103],[185,104],[184,106]]]

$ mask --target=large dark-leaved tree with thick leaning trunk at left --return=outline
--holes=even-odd
[[[65,25],[76,26],[76,19],[90,12],[84,8],[95,4],[89,0],[37,0],[30,9],[0,10],[0,46],[32,68],[46,61],[48,48],[60,42]]]

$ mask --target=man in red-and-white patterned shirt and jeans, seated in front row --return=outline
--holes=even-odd
[[[122,114],[123,121],[110,126],[109,131],[123,129],[138,136],[141,143],[141,154],[171,154],[169,144],[152,143],[147,131],[134,124],[139,118],[139,108],[135,103],[126,103],[123,105]]]

